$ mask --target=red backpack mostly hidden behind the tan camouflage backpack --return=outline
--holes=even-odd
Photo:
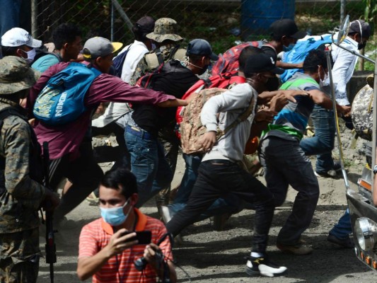
[[[228,75],[216,75],[211,76],[208,79],[201,79],[197,81],[185,95],[182,96],[182,99],[187,99],[192,96],[193,93],[199,93],[204,88],[228,88],[233,84],[245,83],[245,78],[243,76],[236,76],[237,71],[233,71],[233,74]],[[183,120],[183,111],[185,110],[184,106],[178,106],[177,112],[175,114],[175,120],[177,120],[177,127],[175,134],[178,139],[180,139],[180,124]]]

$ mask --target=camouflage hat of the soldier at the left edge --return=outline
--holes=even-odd
[[[21,57],[6,56],[0,59],[0,95],[31,88],[39,77],[40,72],[34,71]]]

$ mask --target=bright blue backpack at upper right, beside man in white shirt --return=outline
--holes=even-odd
[[[325,50],[325,45],[331,43],[331,35],[322,35],[319,40],[316,40],[315,37],[309,37],[307,40],[300,40],[294,45],[292,50],[284,52],[282,62],[301,63],[306,58],[309,51],[322,48]],[[280,79],[285,83],[296,73],[296,71],[301,71],[301,73],[303,73],[303,69],[289,69],[284,71],[280,76]]]

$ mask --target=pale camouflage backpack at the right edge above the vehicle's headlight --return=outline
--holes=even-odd
[[[373,75],[367,77],[368,82],[364,88],[356,94],[352,102],[352,123],[358,137],[372,140],[373,127]]]

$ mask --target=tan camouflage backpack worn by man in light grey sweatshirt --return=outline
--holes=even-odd
[[[207,132],[206,127],[202,125],[200,120],[200,113],[204,103],[213,96],[217,96],[224,93],[227,89],[224,88],[205,88],[197,93],[197,96],[192,98],[189,105],[185,107],[182,115],[182,122],[180,123],[180,142],[182,146],[182,151],[184,154],[204,154],[202,144],[200,139],[202,135]],[[241,113],[238,118],[228,125],[224,131],[217,129],[216,139],[219,140],[233,127],[236,127],[240,122],[246,120],[251,112],[253,112],[254,103],[250,103],[249,107],[245,112]]]

